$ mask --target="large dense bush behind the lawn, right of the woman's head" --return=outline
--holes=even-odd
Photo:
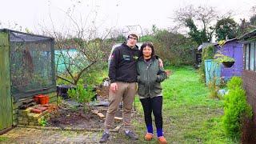
[[[196,44],[182,34],[168,30],[157,30],[154,34],[155,52],[162,58],[164,65],[182,66],[194,63]]]

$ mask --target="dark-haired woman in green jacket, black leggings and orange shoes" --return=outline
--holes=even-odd
[[[158,142],[167,143],[162,131],[162,87],[160,82],[167,76],[158,58],[154,55],[154,46],[145,42],[141,46],[142,57],[137,63],[138,96],[142,102],[146,122],[146,141],[153,138],[152,111],[157,128]]]

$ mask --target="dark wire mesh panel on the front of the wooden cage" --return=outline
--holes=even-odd
[[[54,40],[10,31],[10,78],[14,100],[55,86]]]

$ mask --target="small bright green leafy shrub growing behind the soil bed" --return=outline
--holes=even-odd
[[[82,85],[78,85],[76,89],[68,90],[67,94],[75,101],[84,103],[89,103],[90,99],[93,98],[95,95],[92,86],[87,86],[87,88],[84,89],[84,86]]]

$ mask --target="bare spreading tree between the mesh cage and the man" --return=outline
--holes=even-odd
[[[55,50],[58,50],[55,58],[57,78],[77,85],[82,74],[91,69],[99,69],[107,61],[110,44],[106,42],[106,38],[112,28],[100,33],[96,25],[97,11],[83,18],[84,14],[77,17],[78,14],[75,14],[74,10],[75,6],[72,6],[64,11],[70,22],[65,29],[57,30],[50,15],[52,28],[50,30],[42,26],[42,32],[55,38]]]

